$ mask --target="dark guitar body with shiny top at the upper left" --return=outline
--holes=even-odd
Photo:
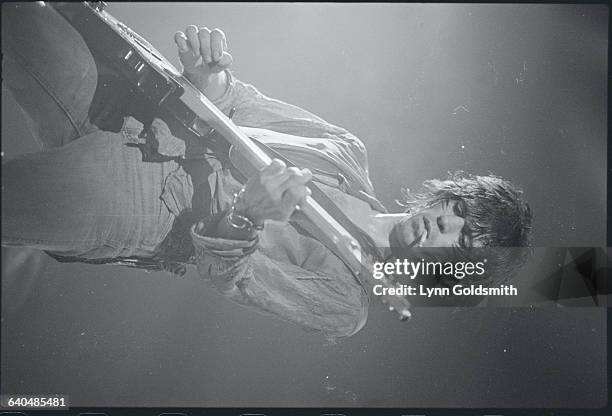
[[[210,127],[180,100],[186,84],[181,73],[144,38],[106,12],[104,3],[51,4],[81,34],[98,66],[116,74],[119,88],[110,86],[112,99],[100,91],[107,87],[104,76],[100,78],[96,94],[104,97],[97,101],[111,103],[114,108],[94,109],[98,118],[119,111],[123,114],[114,114],[116,125],[117,117],[120,123],[128,111],[145,124],[154,117],[162,118],[182,138],[185,134],[202,138],[210,133]],[[207,140],[214,150],[227,151],[227,143],[212,136]]]

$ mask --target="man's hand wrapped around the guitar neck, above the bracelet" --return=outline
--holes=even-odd
[[[306,184],[312,179],[308,169],[287,168],[279,159],[264,168],[257,177],[249,179],[236,212],[254,224],[265,220],[287,221],[296,205],[310,195]]]

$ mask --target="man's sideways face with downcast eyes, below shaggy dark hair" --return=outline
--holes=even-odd
[[[401,219],[389,235],[391,247],[470,247],[462,201],[439,202]]]

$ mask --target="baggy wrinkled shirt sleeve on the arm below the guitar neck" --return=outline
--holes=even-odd
[[[221,215],[215,217],[212,221]],[[326,337],[347,337],[361,329],[368,296],[340,259],[288,224],[266,228],[268,236],[260,242],[259,237],[210,237],[194,226],[199,274],[241,305]]]

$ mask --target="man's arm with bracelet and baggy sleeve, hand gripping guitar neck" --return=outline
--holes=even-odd
[[[198,271],[238,303],[330,337],[349,336],[365,322],[367,294],[339,258],[287,223],[311,178],[278,159],[250,178],[229,210],[193,227]],[[251,226],[237,227],[233,215]]]

